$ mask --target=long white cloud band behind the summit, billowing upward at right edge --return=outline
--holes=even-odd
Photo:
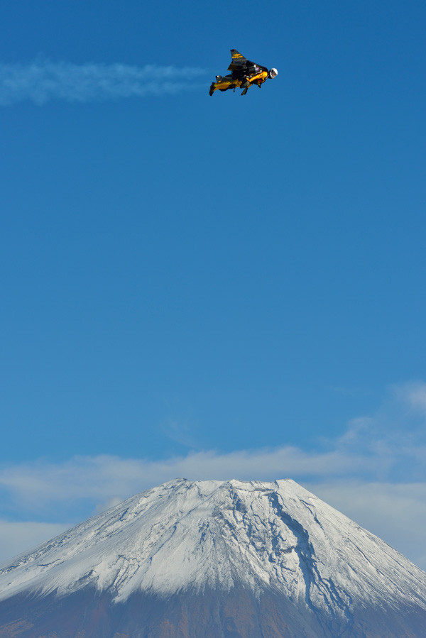
[[[129,496],[176,476],[422,483],[426,481],[424,428],[418,429],[416,416],[411,429],[405,412],[402,426],[400,417],[392,419],[405,402],[417,405],[425,390],[426,384],[415,385],[413,400],[413,386],[393,388],[391,398],[386,398],[377,414],[352,419],[342,436],[323,441],[320,450],[282,446],[228,453],[198,451],[160,460],[107,455],[76,456],[63,463],[40,460],[0,467],[0,489],[9,494],[16,507],[36,510],[65,499],[84,499],[93,507],[99,503],[102,506],[111,498]]]

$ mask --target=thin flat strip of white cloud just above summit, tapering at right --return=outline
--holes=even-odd
[[[65,463],[21,463],[0,471],[0,488],[18,507],[38,510],[63,500],[126,497],[177,476],[189,479],[330,477],[376,471],[378,459],[341,451],[307,453],[295,447],[256,451],[192,452],[150,461],[116,456],[80,456]]]

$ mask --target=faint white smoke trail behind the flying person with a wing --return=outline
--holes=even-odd
[[[196,89],[205,71],[194,67],[143,67],[99,63],[82,65],[38,59],[28,65],[0,64],[0,104],[51,99],[88,102],[176,94]]]

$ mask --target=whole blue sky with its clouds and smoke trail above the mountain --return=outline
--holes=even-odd
[[[290,476],[426,567],[425,18],[5,9],[0,558],[186,473]],[[209,97],[230,48],[278,77]]]

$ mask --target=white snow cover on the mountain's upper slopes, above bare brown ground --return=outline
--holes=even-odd
[[[293,480],[173,480],[0,568],[0,600],[87,585],[114,602],[185,588],[273,588],[317,609],[426,609],[426,573]]]

